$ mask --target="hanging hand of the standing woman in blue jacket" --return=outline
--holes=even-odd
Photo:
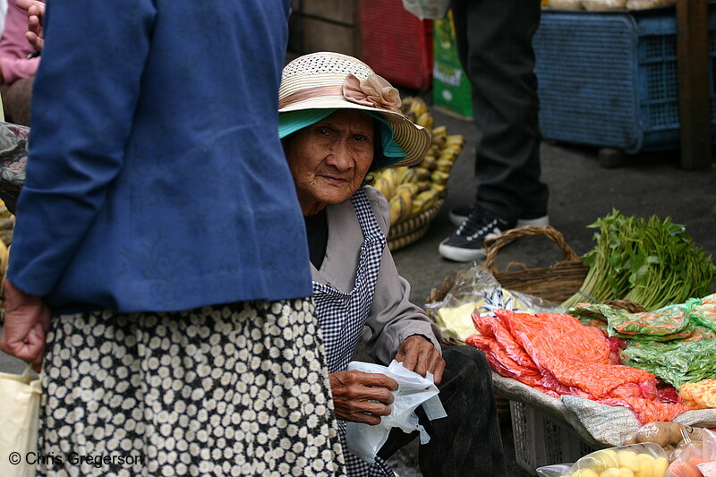
[[[50,328],[50,309],[38,296],[26,294],[5,280],[5,318],[0,349],[40,370],[45,336]]]

